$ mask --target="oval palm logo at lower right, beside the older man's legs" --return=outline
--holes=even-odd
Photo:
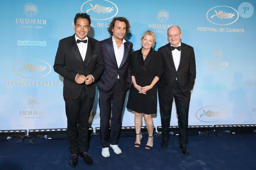
[[[199,109],[196,112],[196,118],[202,122],[217,122],[224,118],[226,112],[218,106],[207,106]]]

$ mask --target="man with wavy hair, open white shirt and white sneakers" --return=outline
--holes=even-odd
[[[126,92],[131,87],[132,43],[124,40],[130,24],[126,18],[113,18],[109,25],[110,38],[101,41],[105,70],[97,83],[99,90],[100,130],[102,156],[109,157],[109,146],[116,154],[122,153],[117,145]],[[112,114],[112,117],[111,117]],[[109,120],[111,119],[111,130]]]

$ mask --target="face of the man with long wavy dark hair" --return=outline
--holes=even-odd
[[[112,29],[112,32],[115,40],[122,40],[126,33],[125,22],[117,20],[115,22],[114,28]]]

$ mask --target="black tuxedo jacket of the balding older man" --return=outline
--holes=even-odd
[[[193,89],[196,79],[196,61],[193,47],[181,43],[181,60],[176,71],[170,43],[158,49],[162,56],[164,71],[158,83],[158,92],[161,94],[170,94],[177,83],[184,94],[188,96]]]

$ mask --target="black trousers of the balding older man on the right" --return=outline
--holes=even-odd
[[[189,96],[184,96],[179,89],[177,83],[172,90],[171,94],[158,93],[161,123],[162,123],[162,137],[169,138],[169,126],[173,105],[173,98],[176,104],[178,126],[179,126],[179,143],[188,144],[188,110],[190,103]]]

